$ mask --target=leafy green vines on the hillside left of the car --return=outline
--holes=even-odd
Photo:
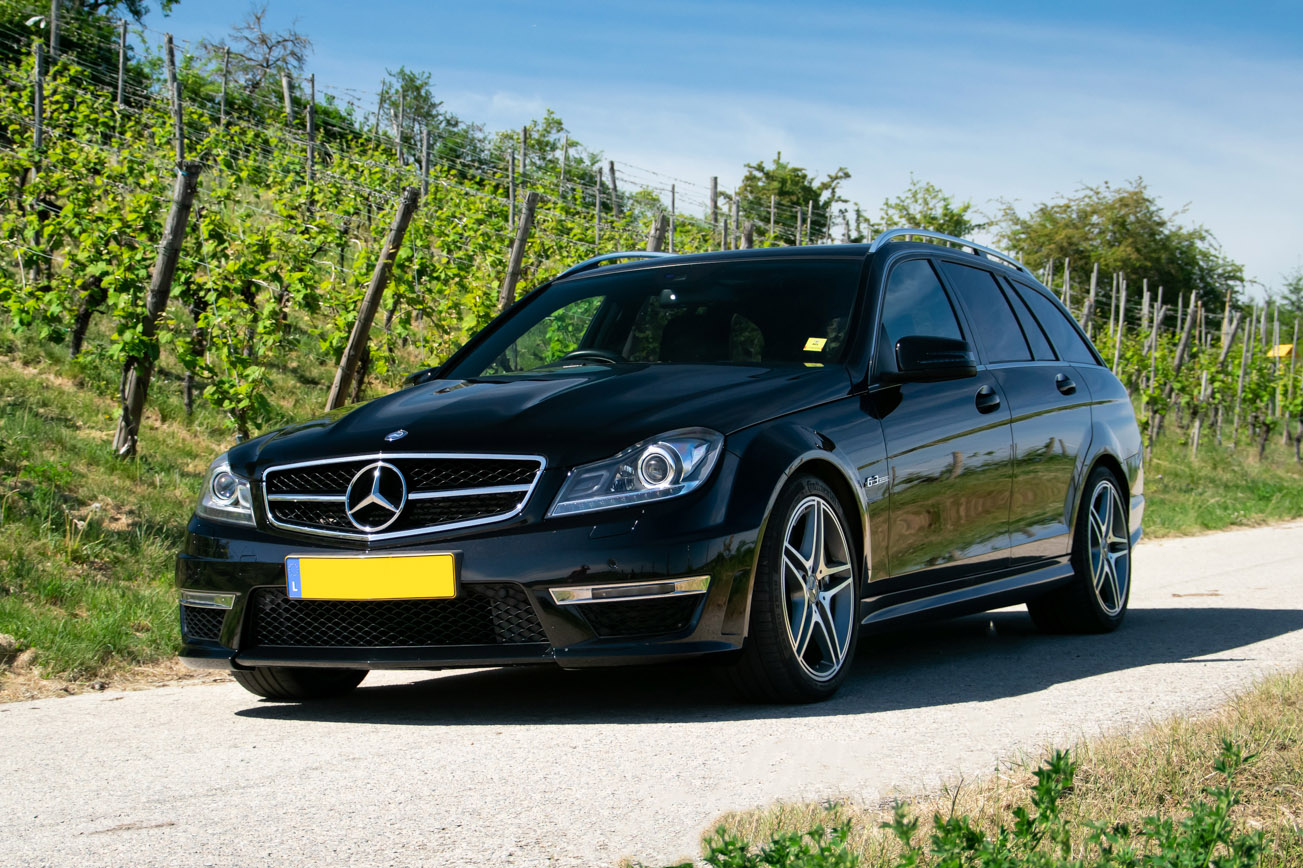
[[[400,146],[373,136],[327,99],[314,106],[309,179],[302,95],[291,125],[276,100],[231,87],[222,123],[220,68],[180,57],[186,155],[203,163],[203,173],[172,302],[156,339],[147,339],[145,296],[176,171],[163,63],[152,55],[133,59],[119,104],[116,63],[103,65],[116,60],[112,29],[90,14],[69,16],[65,26],[78,39],[65,42],[94,44],[96,64],[73,51],[53,63],[47,57],[39,150],[36,36],[0,25],[12,57],[0,70],[0,310],[10,327],[68,341],[74,352],[122,361],[158,358],[171,347],[186,382],[249,437],[278,421],[271,365],[305,349],[327,358],[343,351],[397,197],[404,186],[421,185],[418,141],[408,133]],[[569,141],[562,184],[559,124],[549,115],[543,128],[536,125],[530,176],[516,179],[519,189],[528,182],[545,190],[521,287],[597,250],[599,155]],[[439,142],[431,150],[438,154]],[[382,302],[383,334],[369,347],[367,369],[377,378],[413,360],[447,357],[498,313],[513,236],[504,163],[466,168],[452,158],[431,160],[427,185]],[[616,215],[609,182],[602,194],[602,249],[642,248],[659,201],[622,192]],[[709,237],[709,228],[680,222],[676,249],[705,249]],[[87,341],[96,315],[112,323],[98,345]]]

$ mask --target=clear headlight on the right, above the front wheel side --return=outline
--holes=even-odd
[[[676,498],[710,476],[724,438],[705,427],[685,427],[631,446],[615,457],[571,470],[547,515],[611,510]]]

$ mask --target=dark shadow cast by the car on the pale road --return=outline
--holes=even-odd
[[[259,701],[241,717],[390,726],[675,723],[866,714],[981,702],[1153,663],[1244,659],[1235,649],[1303,629],[1294,609],[1132,609],[1108,636],[1046,636],[998,611],[866,636],[840,692],[813,705],[741,702],[709,666],[443,673],[337,700]]]

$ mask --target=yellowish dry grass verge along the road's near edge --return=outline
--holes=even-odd
[[[1132,837],[1145,828],[1145,817],[1157,815],[1171,820],[1179,830],[1181,821],[1191,811],[1210,800],[1208,788],[1220,786],[1218,760],[1224,759],[1224,745],[1234,744],[1248,761],[1234,778],[1239,803],[1229,809],[1225,832],[1237,837],[1261,832],[1268,846],[1263,852],[1264,868],[1298,868],[1303,865],[1303,671],[1270,676],[1213,714],[1197,718],[1174,718],[1122,736],[1092,739],[1074,745],[1068,755],[1076,765],[1071,786],[1061,794],[1058,808],[1065,828],[1075,830],[1071,859],[1084,859],[1084,864],[1141,864],[1141,865],[1207,865],[1191,858],[1164,860],[1157,856],[1160,842],[1139,842],[1141,854],[1153,860],[1126,863],[1100,858],[1097,848],[1088,843],[1092,822],[1106,828],[1124,824]],[[1033,788],[1041,781],[1038,769],[1055,765],[1054,752],[1014,764],[990,778],[946,787],[939,792],[919,796],[904,803],[904,815],[919,818],[915,845],[926,851],[929,838],[942,832],[943,845],[955,843],[951,832],[955,820],[963,818],[976,835],[994,839],[1001,826],[1014,830],[1014,812],[1029,809],[1040,812]],[[936,820],[933,820],[936,818]],[[717,832],[706,835],[704,850],[718,851],[721,838],[740,842],[749,851],[748,858],[731,861],[714,860],[711,865],[1061,865],[1061,852],[1049,841],[1033,848],[1036,856],[1010,861],[980,861],[968,858],[947,861],[936,854],[916,852],[919,861],[907,861],[906,848],[890,826],[895,821],[893,807],[856,804],[775,804],[756,811],[740,811],[721,817]],[[941,822],[942,826],[937,824]],[[827,834],[816,829],[843,829],[842,841],[834,848],[835,859],[764,860],[761,848],[775,838],[805,835],[807,841],[827,841]],[[1016,835],[1015,835],[1016,837]],[[936,839],[930,842],[936,845]],[[1190,841],[1184,842],[1191,843]],[[943,847],[945,848],[945,847]],[[1188,847],[1173,847],[1192,856]],[[732,846],[736,855],[737,845]],[[1016,847],[1014,848],[1016,850]],[[1227,858],[1225,843],[1216,851],[1218,861],[1237,863]],[[1169,854],[1170,855],[1170,854]],[[748,860],[749,859],[749,860]],[[1042,860],[1044,859],[1044,860]],[[1098,859],[1098,861],[1096,861]],[[1071,863],[1080,864],[1080,863]]]

